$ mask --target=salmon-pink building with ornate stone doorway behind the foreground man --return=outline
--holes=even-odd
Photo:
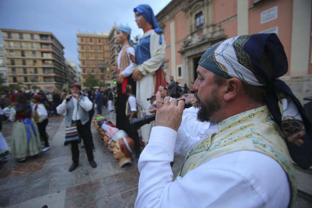
[[[311,11],[310,0],[173,0],[156,15],[167,46],[166,76],[190,86],[200,57],[213,44],[275,32],[288,58],[281,79],[305,103],[312,92]]]

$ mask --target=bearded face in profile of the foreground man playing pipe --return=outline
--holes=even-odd
[[[197,67],[197,79],[194,82],[193,89],[197,105],[197,120],[210,121],[213,115],[222,108],[222,96],[219,94],[217,83],[214,81],[214,74],[202,66]]]

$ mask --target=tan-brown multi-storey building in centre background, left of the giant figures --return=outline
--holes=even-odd
[[[95,75],[95,78],[100,83],[105,83],[106,86],[112,86],[112,60],[110,58],[110,31],[106,33],[89,34],[77,33],[78,53],[79,53],[79,67],[81,73],[81,83],[85,82],[88,74]],[[106,64],[106,69],[101,71],[99,64],[103,61]]]

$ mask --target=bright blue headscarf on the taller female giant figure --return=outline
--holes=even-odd
[[[134,8],[134,12],[139,12],[143,15],[146,21],[153,27],[157,34],[162,34],[163,31],[159,28],[153,9],[147,4],[141,4]],[[161,36],[159,38],[159,44],[162,44]]]

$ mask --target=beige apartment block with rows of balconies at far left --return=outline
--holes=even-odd
[[[68,83],[64,46],[51,32],[0,29],[8,84],[52,91]]]

